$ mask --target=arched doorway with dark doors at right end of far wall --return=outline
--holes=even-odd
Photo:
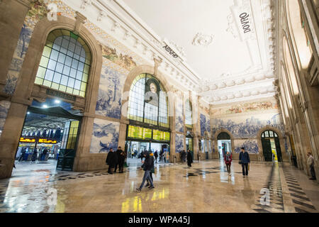
[[[266,162],[282,162],[279,136],[274,131],[262,133],[262,151]]]

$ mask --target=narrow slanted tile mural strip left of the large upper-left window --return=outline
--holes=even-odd
[[[23,24],[23,28],[21,29],[20,37],[18,39],[18,45],[16,46],[9,72],[6,77],[6,86],[4,87],[4,92],[6,94],[13,94],[16,90],[18,76],[21,71],[24,58],[26,57],[26,52],[28,51],[32,33],[33,31]]]

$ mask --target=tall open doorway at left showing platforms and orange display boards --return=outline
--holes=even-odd
[[[82,117],[71,114],[60,104],[66,103],[47,99],[43,104],[33,101],[28,107],[13,176],[73,169]]]

